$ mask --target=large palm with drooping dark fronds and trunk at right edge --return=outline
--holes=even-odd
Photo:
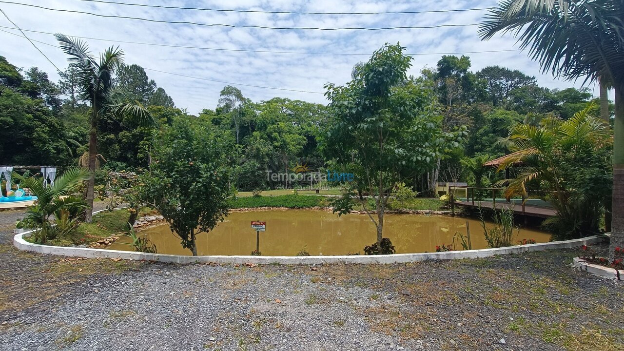
[[[512,32],[544,72],[615,89],[611,250],[624,246],[624,1],[504,0],[479,35]]]

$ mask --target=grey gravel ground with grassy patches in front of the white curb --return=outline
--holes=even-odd
[[[0,212],[0,350],[624,350],[624,285],[573,270],[577,250],[316,267],[72,260],[14,249],[14,212]]]

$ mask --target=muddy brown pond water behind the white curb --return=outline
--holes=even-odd
[[[338,217],[324,210],[257,210],[231,212],[210,233],[197,239],[198,255],[249,255],[256,249],[256,232],[252,221],[266,222],[260,232],[260,252],[265,256],[294,256],[301,249],[310,255],[346,255],[359,252],[376,242],[376,229],[366,214]],[[473,249],[485,249],[487,243],[480,222],[463,217],[416,214],[386,214],[384,237],[389,237],[397,254],[435,252],[436,245],[452,244],[456,232],[466,234],[470,226]],[[139,232],[156,245],[159,254],[190,255],[180,239],[173,236],[167,224],[155,225]],[[109,249],[132,250],[124,237]],[[514,244],[521,239],[548,242],[550,234],[535,229],[520,229]],[[457,249],[462,249],[460,244]]]

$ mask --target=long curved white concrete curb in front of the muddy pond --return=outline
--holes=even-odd
[[[94,214],[102,211],[94,212]],[[85,257],[87,259],[109,258],[125,260],[155,260],[158,262],[169,262],[177,264],[189,263],[209,263],[218,264],[394,264],[406,262],[419,262],[426,260],[457,260],[457,259],[477,259],[494,255],[520,254],[522,252],[542,251],[549,249],[569,249],[581,245],[595,244],[601,242],[602,238],[597,236],[585,237],[583,239],[572,239],[565,241],[545,242],[540,244],[515,245],[500,247],[498,249],[464,250],[449,252],[426,252],[420,254],[394,254],[394,255],[341,255],[341,256],[185,256],[166,254],[145,254],[143,252],[90,249],[87,247],[61,247],[32,244],[24,240],[23,236],[31,233],[24,232],[13,237],[13,244],[17,249],[39,254],[64,255],[72,257]]]

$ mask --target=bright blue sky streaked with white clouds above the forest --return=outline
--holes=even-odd
[[[290,12],[384,12],[384,11],[431,11],[469,9],[494,6],[495,1],[457,0],[220,0],[220,1],[147,1],[111,0],[165,6],[203,7],[213,9],[243,9]],[[124,6],[80,0],[14,0],[22,4],[34,4],[53,9],[92,12],[113,16],[142,17],[159,21],[187,21],[207,24],[254,25],[270,27],[395,27],[437,26],[441,24],[475,24],[486,11],[462,11],[426,14],[266,14],[249,12],[213,12],[183,9],[159,9],[153,7]],[[63,33],[69,36],[90,37],[85,39],[94,53],[110,45],[119,45],[125,51],[125,62],[139,64],[151,79],[163,87],[177,107],[196,113],[203,108],[217,105],[220,90],[226,84],[190,77],[157,72],[170,72],[202,79],[248,84],[237,86],[253,101],[271,97],[289,97],[310,102],[326,103],[323,85],[326,82],[344,84],[349,80],[351,67],[366,61],[370,54],[385,42],[400,42],[412,54],[451,53],[466,51],[492,51],[516,49],[512,37],[495,37],[482,42],[476,26],[440,27],[429,29],[392,29],[385,31],[314,31],[275,30],[258,28],[230,28],[221,26],[195,26],[190,24],[165,24],[95,17],[88,14],[50,11],[17,4],[0,3],[17,26],[29,31]],[[7,32],[19,34],[6,18],[0,16],[0,55],[18,67],[38,66],[48,72],[52,80],[58,75],[54,66],[46,61],[26,39]],[[26,32],[31,39],[56,44],[49,34]],[[107,39],[95,40],[95,39]],[[173,46],[211,47],[216,49],[243,49],[254,51],[288,51],[307,54],[276,54],[264,52],[216,51],[207,49],[182,49],[143,44],[111,42],[132,41]],[[57,47],[36,42],[39,49],[60,69],[67,66],[66,56]],[[314,54],[316,53],[316,54]],[[326,53],[326,54],[318,54]],[[327,54],[331,53],[331,54]],[[336,55],[341,54],[341,55]],[[349,54],[349,55],[344,55]],[[361,55],[351,55],[361,54]],[[486,52],[467,54],[472,69],[489,65],[520,69],[538,78],[542,86],[562,89],[580,87],[582,81],[557,81],[552,76],[540,74],[539,66],[527,58],[525,52]],[[435,66],[440,54],[414,56],[410,74],[417,75],[424,66]],[[156,71],[154,71],[156,70]],[[292,89],[280,91],[263,87]],[[589,86],[598,94],[597,89]],[[305,92],[302,92],[305,91]]]

